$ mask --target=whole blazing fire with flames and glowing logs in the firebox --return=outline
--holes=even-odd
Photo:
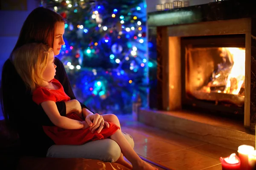
[[[241,87],[244,88],[245,80],[245,49],[235,47],[221,47],[220,57],[222,62],[218,64],[217,71],[212,73],[212,81],[201,90],[207,93],[218,92],[233,95],[239,94]],[[224,86],[224,89],[221,89]],[[215,90],[211,90],[215,87]]]

